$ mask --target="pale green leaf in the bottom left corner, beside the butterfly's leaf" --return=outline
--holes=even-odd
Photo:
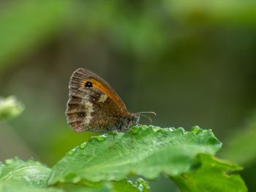
[[[0,166],[0,183],[46,187],[50,169],[37,161],[22,161],[19,158],[7,159]]]

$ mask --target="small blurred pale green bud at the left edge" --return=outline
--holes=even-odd
[[[24,106],[14,96],[5,99],[0,97],[0,121],[14,118],[23,112]]]

